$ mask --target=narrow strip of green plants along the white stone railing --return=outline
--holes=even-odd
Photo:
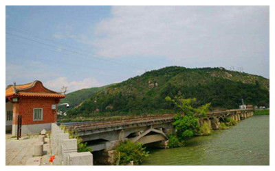
[[[77,140],[78,153],[85,151],[91,152],[92,149],[87,147],[87,142],[82,142],[83,139],[78,136],[76,131],[69,131],[69,129],[66,129],[65,125],[63,124],[61,124],[60,128],[64,130],[64,133],[69,133],[69,139],[75,138]]]

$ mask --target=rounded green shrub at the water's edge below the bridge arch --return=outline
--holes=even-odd
[[[148,152],[142,148],[142,144],[139,142],[133,143],[126,140],[115,148],[114,161],[116,165],[126,166],[130,161],[133,161],[134,165],[140,165],[144,157],[148,157]]]

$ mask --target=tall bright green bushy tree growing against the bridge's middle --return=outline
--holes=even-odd
[[[175,134],[169,137],[169,148],[184,146],[186,140],[195,134],[208,135],[210,133],[209,126],[208,124],[206,125],[206,122],[203,123],[202,127],[199,127],[198,124],[199,117],[206,116],[210,103],[195,107],[195,105],[197,105],[196,98],[184,99],[182,96],[175,96],[173,99],[167,96],[166,101],[172,102],[180,111],[174,116],[175,121],[172,124],[175,128]]]

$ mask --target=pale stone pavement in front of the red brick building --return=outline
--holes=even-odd
[[[25,135],[17,140],[11,134],[5,134],[5,165],[26,165],[27,161],[28,165],[52,165],[49,162],[51,152],[48,136],[45,137],[43,156],[34,157],[34,144],[39,141],[39,135]]]

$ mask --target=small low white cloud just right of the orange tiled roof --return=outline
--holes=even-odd
[[[53,79],[44,83],[46,88],[51,90],[60,91],[63,86],[68,87],[67,92],[74,92],[76,90],[80,90],[83,88],[92,88],[92,87],[99,87],[104,86],[103,83],[94,79],[94,78],[87,78],[83,79],[82,81],[71,81],[69,82],[67,77],[58,77],[57,79]]]

